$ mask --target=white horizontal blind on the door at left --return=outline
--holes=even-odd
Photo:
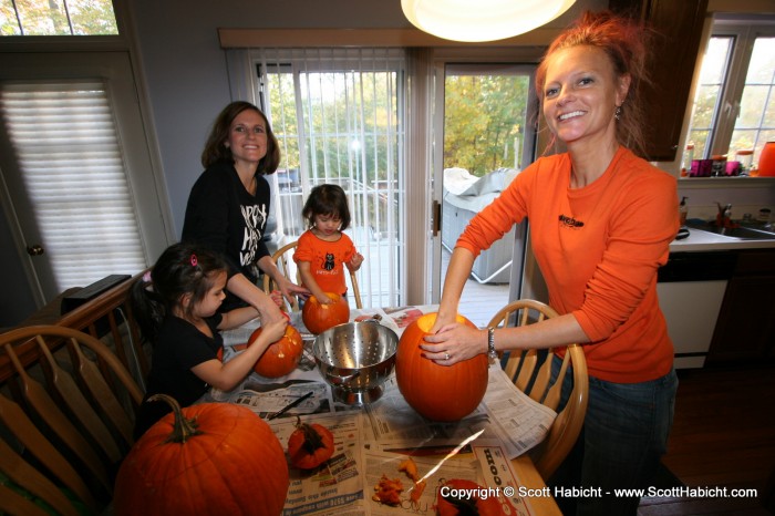
[[[60,291],[142,270],[105,83],[6,83],[0,109]]]

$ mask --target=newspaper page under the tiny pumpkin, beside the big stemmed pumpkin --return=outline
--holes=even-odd
[[[304,423],[318,423],[333,434],[333,456],[317,469],[290,467],[290,486],[282,514],[298,515],[363,515],[364,462],[362,456],[361,416],[349,414],[316,414],[302,417]],[[296,430],[296,421],[272,420],[269,423],[283,450]]]

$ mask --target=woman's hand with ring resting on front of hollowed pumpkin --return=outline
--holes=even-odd
[[[425,337],[420,345],[426,359],[452,365],[487,351],[487,331],[453,322]]]

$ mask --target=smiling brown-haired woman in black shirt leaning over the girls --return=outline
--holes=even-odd
[[[220,112],[202,153],[205,172],[188,197],[182,239],[220,252],[229,264],[229,296],[221,310],[247,302],[264,319],[281,317],[256,286],[257,268],[286,298],[308,293],[282,276],[262,239],[270,205],[265,176],[273,174],[279,163],[277,140],[258,107],[238,101]]]

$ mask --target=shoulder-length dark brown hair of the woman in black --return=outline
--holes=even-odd
[[[280,165],[280,146],[277,143],[275,133],[271,131],[269,120],[261,110],[245,101],[232,102],[224,107],[213,123],[210,135],[207,137],[207,143],[205,143],[205,149],[202,152],[202,165],[205,168],[219,162],[234,163],[231,149],[228,148],[225,143],[229,137],[231,122],[234,122],[241,112],[247,110],[252,110],[261,115],[267,126],[267,155],[258,162],[258,169],[256,173],[268,175],[277,171],[277,167]]]

